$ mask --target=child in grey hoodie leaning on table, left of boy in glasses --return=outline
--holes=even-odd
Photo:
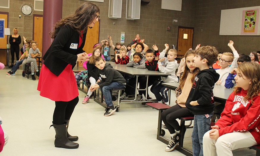
[[[129,63],[127,63],[126,66],[144,69],[145,68],[145,60],[143,59],[143,55],[141,53],[138,53],[138,52],[134,53],[133,61],[130,61]],[[139,77],[139,78],[141,78],[141,77]],[[135,85],[136,84],[136,77],[130,78],[127,84],[130,84],[131,86]],[[127,85],[125,87],[125,92],[124,92],[124,94],[122,94],[122,96],[120,96],[120,99],[127,99],[130,92],[131,92],[131,87],[129,85]],[[137,101],[143,100],[143,96],[140,92],[139,92],[138,96],[136,97],[136,100]]]

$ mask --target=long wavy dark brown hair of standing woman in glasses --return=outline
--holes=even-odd
[[[91,2],[85,2],[75,11],[75,13],[63,18],[54,27],[54,31],[50,32],[51,38],[55,38],[61,27],[70,25],[71,28],[78,31],[78,34],[87,32],[88,25],[92,23],[96,13],[99,13],[99,7]]]

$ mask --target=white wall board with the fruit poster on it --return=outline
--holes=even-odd
[[[260,35],[260,6],[221,10],[219,35]]]

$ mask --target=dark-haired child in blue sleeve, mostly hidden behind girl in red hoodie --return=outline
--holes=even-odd
[[[241,55],[241,54],[239,54],[239,55]],[[245,62],[251,62],[250,57],[248,55],[239,56],[239,58],[237,60],[237,66],[239,66],[239,64],[242,64]],[[231,70],[231,72],[229,72],[229,75],[226,78],[226,83],[225,83],[226,88],[234,87],[236,75],[237,75],[237,68],[234,68],[233,70]]]

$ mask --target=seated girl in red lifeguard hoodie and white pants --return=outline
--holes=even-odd
[[[233,155],[232,150],[260,144],[260,65],[237,67],[236,87],[226,100],[221,118],[203,136],[206,156]]]

